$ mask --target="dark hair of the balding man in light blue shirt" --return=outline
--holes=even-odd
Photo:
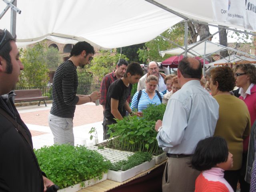
[[[192,64],[188,61],[188,57],[184,57],[179,62],[178,70],[180,70],[180,72],[184,78],[196,78],[196,79],[200,80],[201,76],[202,76],[201,62],[198,61],[198,67],[193,68]]]

